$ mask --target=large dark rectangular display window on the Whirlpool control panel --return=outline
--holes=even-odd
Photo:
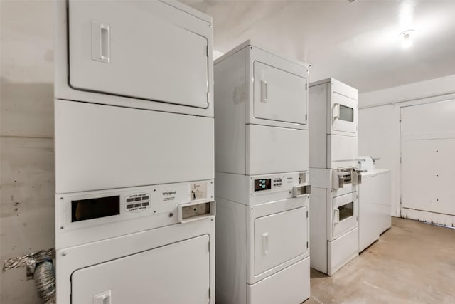
[[[117,214],[120,214],[120,196],[118,195],[71,201],[72,222]]]

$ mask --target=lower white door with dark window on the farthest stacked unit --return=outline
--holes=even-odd
[[[333,197],[331,210],[332,235],[336,238],[358,226],[357,192]]]

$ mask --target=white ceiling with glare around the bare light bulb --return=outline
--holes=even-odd
[[[360,92],[455,74],[455,0],[185,0],[213,16],[214,49],[247,39]],[[402,48],[399,34],[415,30]]]

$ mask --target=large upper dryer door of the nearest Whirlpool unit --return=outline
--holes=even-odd
[[[71,87],[208,108],[207,21],[161,1],[70,0],[68,23]]]

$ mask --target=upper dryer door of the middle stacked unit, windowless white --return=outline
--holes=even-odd
[[[306,78],[259,61],[253,69],[255,117],[306,124]]]

